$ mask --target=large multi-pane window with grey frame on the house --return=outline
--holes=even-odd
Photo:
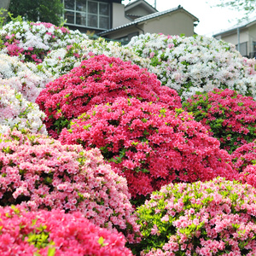
[[[108,29],[109,3],[93,0],[63,0],[67,24]]]

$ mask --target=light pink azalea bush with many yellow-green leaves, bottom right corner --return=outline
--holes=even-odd
[[[218,177],[170,183],[137,209],[142,256],[256,254],[256,189]]]

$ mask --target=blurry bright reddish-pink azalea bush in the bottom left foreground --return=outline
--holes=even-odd
[[[0,207],[2,256],[131,256],[120,233],[97,227],[80,213]]]

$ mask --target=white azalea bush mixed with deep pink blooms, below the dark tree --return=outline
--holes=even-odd
[[[40,21],[10,21],[0,30],[4,52],[35,63],[41,63],[52,49],[80,43],[87,38],[79,31]]]

